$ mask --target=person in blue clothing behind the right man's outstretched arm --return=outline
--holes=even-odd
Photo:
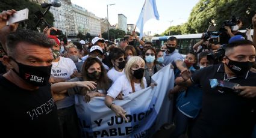
[[[200,53],[199,63],[202,63],[203,58],[206,57],[204,52]],[[189,53],[185,58],[185,63],[187,67],[193,73],[196,71],[194,65],[196,65],[196,55]],[[207,61],[208,62],[208,61]],[[204,64],[207,67],[208,64]],[[182,77],[176,77],[175,83],[183,82]],[[180,92],[180,93],[178,93]],[[190,128],[193,124],[193,119],[195,119],[202,107],[202,88],[200,85],[193,85],[189,87],[183,87],[176,85],[172,90],[169,91],[170,94],[178,93],[178,97],[175,100],[176,110],[174,115],[175,130],[170,137],[181,137],[185,136],[186,132],[190,132]],[[187,129],[189,128],[189,129]]]

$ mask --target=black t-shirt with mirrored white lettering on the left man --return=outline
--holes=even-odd
[[[51,87],[19,88],[0,76],[1,134],[7,137],[60,137]]]

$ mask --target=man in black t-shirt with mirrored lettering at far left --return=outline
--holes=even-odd
[[[13,13],[0,13],[0,34],[8,31],[1,25],[6,25]],[[2,59],[10,70],[0,76],[1,135],[60,137],[57,107],[49,85],[54,43],[39,32],[23,29],[8,34],[6,41],[8,56]]]

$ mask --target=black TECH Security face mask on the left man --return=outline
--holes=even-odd
[[[10,59],[13,58],[10,57]],[[21,64],[15,59],[13,59],[13,61],[18,65],[19,73],[14,68],[12,70],[26,82],[34,86],[45,86],[49,83],[52,65],[37,67]]]

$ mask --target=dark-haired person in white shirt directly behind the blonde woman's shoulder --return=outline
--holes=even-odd
[[[122,49],[114,47],[110,50],[110,55],[108,56],[113,65],[111,70],[108,71],[107,76],[115,82],[116,79],[124,75],[123,68],[125,68],[125,52]]]

